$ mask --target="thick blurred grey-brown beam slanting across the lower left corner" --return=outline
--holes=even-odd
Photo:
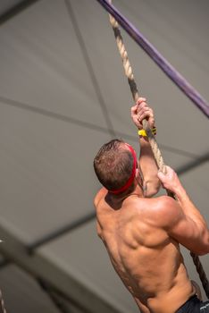
[[[87,313],[120,313],[106,300],[90,291],[62,268],[55,266],[49,259],[39,255],[29,255],[23,243],[10,232],[0,226],[1,238],[0,253],[4,258],[14,262],[35,279],[42,279],[61,294],[63,299],[70,300],[73,305]]]

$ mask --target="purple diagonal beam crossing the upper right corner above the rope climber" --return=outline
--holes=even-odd
[[[140,47],[142,47],[146,54],[149,55],[155,63],[165,72],[165,74],[192,100],[192,102],[207,116],[209,117],[209,105],[197,91],[194,89],[187,80],[176,71],[163,55],[138,31],[138,29],[131,24],[108,0],[96,0],[101,4],[104,9],[113,15],[116,21],[119,22],[121,27],[128,32]]]

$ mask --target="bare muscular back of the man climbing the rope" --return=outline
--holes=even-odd
[[[180,248],[161,226],[158,199],[96,196],[97,232],[143,313],[174,313],[194,293]],[[169,207],[168,207],[169,210]]]

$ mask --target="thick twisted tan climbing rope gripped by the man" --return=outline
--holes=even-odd
[[[109,0],[109,2],[111,3],[111,0]],[[134,75],[133,75],[133,71],[132,71],[132,67],[130,65],[130,60],[128,58],[128,53],[126,51],[126,48],[124,46],[123,43],[123,39],[121,37],[121,31],[119,30],[119,25],[118,22],[114,19],[114,17],[110,14],[110,22],[111,25],[113,27],[113,32],[114,32],[114,37],[116,39],[116,43],[119,49],[119,53],[121,55],[121,59],[122,59],[122,64],[125,70],[125,75],[127,76],[127,79],[129,81],[129,85],[130,85],[130,90],[131,90],[131,94],[133,97],[134,102],[136,103],[139,97],[138,94],[138,87],[136,84],[136,81],[134,80]],[[159,169],[165,173],[166,172],[166,167],[164,165],[164,161],[163,161],[163,157],[161,154],[160,149],[158,148],[157,142],[155,140],[155,136],[153,135],[151,129],[148,126],[148,123],[146,122],[146,120],[143,121],[143,128],[146,130],[147,133],[147,138],[149,140],[150,146],[153,150],[153,154],[155,157],[155,161],[156,164],[158,165]],[[169,196],[171,196],[172,198],[175,199],[175,195],[173,195],[170,191],[167,190],[167,193]],[[207,280],[207,277],[205,275],[205,270],[198,258],[198,256],[196,256],[195,253],[190,252],[191,257],[193,258],[193,262],[196,266],[196,271],[199,275],[199,278],[203,284],[203,288],[205,290],[205,294],[207,296],[207,298],[209,299],[209,283]]]

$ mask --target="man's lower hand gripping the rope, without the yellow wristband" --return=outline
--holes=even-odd
[[[177,194],[182,185],[180,183],[177,173],[173,171],[170,166],[166,166],[166,173],[159,171],[157,173],[159,180],[163,184],[163,188],[171,190],[173,193]]]

